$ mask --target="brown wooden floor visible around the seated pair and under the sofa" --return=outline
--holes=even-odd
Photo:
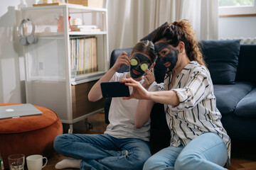
[[[87,133],[97,134],[103,133],[107,124],[105,123],[104,113],[97,113],[88,118],[88,122],[92,125],[92,128],[85,127],[85,121],[81,121],[74,125],[73,133]],[[68,132],[68,126],[63,125],[64,132]],[[250,148],[249,147],[252,147]],[[231,165],[227,168],[229,170],[256,170],[256,145],[255,142],[241,142],[233,141]],[[57,162],[60,162],[65,157],[61,154],[55,154],[48,159],[48,164],[43,170],[53,170]],[[67,169],[73,170],[73,169]],[[100,170],[100,169],[99,169]]]

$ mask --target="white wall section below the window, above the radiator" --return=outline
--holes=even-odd
[[[218,21],[218,38],[256,37],[256,16],[221,17]]]

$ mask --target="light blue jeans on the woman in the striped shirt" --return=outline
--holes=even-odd
[[[218,170],[228,160],[228,149],[220,136],[207,132],[183,147],[166,147],[150,157],[143,169]]]

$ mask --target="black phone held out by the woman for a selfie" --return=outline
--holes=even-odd
[[[102,89],[102,96],[109,97],[129,97],[129,86],[125,86],[124,83],[119,81],[115,82],[103,82],[100,84]]]

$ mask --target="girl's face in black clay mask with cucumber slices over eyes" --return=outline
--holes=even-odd
[[[148,57],[139,53],[135,53],[131,57],[130,66],[131,77],[133,79],[137,79],[144,76],[146,69],[148,69],[151,64]]]

